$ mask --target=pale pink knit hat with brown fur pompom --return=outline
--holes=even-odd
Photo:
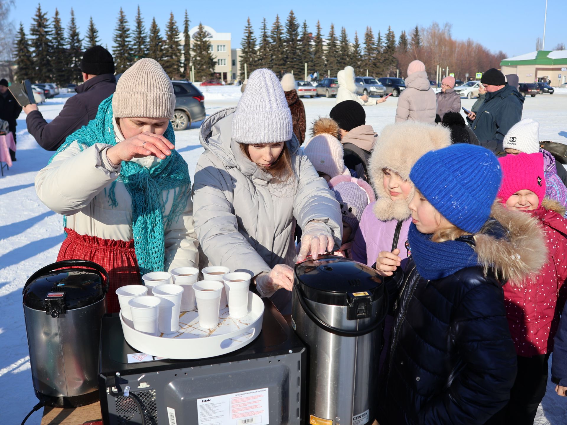
[[[314,122],[312,134],[313,137],[306,143],[303,152],[315,169],[331,179],[340,175],[350,176],[343,159],[341,142],[337,139],[337,123],[331,118],[319,118]]]

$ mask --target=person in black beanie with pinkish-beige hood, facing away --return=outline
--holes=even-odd
[[[377,134],[371,125],[366,125],[364,108],[357,101],[344,100],[331,109],[329,117],[338,124],[346,167],[371,185],[367,164]]]

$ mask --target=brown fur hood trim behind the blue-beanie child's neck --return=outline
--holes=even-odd
[[[507,230],[507,238],[497,239],[487,234],[485,225],[475,235],[475,251],[485,273],[493,270],[500,281],[522,286],[528,277],[537,274],[548,261],[545,232],[538,220],[521,211],[509,211],[496,201],[490,216]]]

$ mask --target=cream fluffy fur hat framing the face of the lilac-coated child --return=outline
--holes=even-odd
[[[378,200],[374,204],[374,214],[382,221],[405,220],[411,215],[408,201],[392,201],[384,190],[384,168],[395,172],[404,180],[409,180],[413,164],[429,151],[451,145],[451,132],[442,126],[422,122],[396,122],[384,127],[374,143],[369,162],[370,181]],[[408,196],[413,197],[414,188]]]

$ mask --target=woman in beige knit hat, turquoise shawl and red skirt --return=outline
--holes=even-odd
[[[58,261],[91,260],[116,288],[141,274],[198,264],[191,179],[175,151],[175,94],[154,59],[122,74],[96,118],[67,137],[36,177],[37,196],[65,215]]]

